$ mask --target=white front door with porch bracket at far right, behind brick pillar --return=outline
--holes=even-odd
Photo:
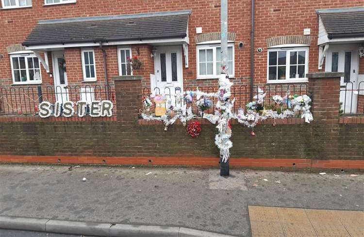
[[[326,54],[325,71],[343,72],[341,78],[340,102],[344,113],[356,113],[358,95],[359,45],[330,45]]]

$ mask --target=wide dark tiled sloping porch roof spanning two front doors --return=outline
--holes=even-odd
[[[50,45],[87,46],[98,44],[100,41],[104,42],[104,45],[159,39],[188,41],[190,14],[191,11],[176,11],[41,20],[23,45],[29,49],[36,49]]]

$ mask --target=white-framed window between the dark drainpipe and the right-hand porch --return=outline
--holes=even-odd
[[[270,83],[306,81],[308,47],[268,49],[267,64]]]

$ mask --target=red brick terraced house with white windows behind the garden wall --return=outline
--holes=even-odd
[[[114,77],[131,74],[143,76],[150,91],[216,87],[219,2],[1,0],[0,86],[60,90],[53,100],[86,85],[112,88]],[[345,72],[344,89],[363,89],[341,96],[355,101],[345,103],[345,112],[363,113],[363,6],[364,0],[255,0],[251,47],[252,2],[229,0],[232,81],[244,88],[287,85],[307,82],[309,72]],[[144,65],[130,72],[127,58],[135,55]]]

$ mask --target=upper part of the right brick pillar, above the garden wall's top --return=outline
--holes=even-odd
[[[315,123],[337,123],[340,106],[341,72],[308,73],[308,90],[312,98]]]

